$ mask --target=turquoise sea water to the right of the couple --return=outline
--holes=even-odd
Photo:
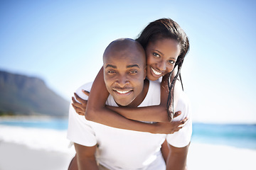
[[[193,123],[192,142],[256,149],[256,125]]]

